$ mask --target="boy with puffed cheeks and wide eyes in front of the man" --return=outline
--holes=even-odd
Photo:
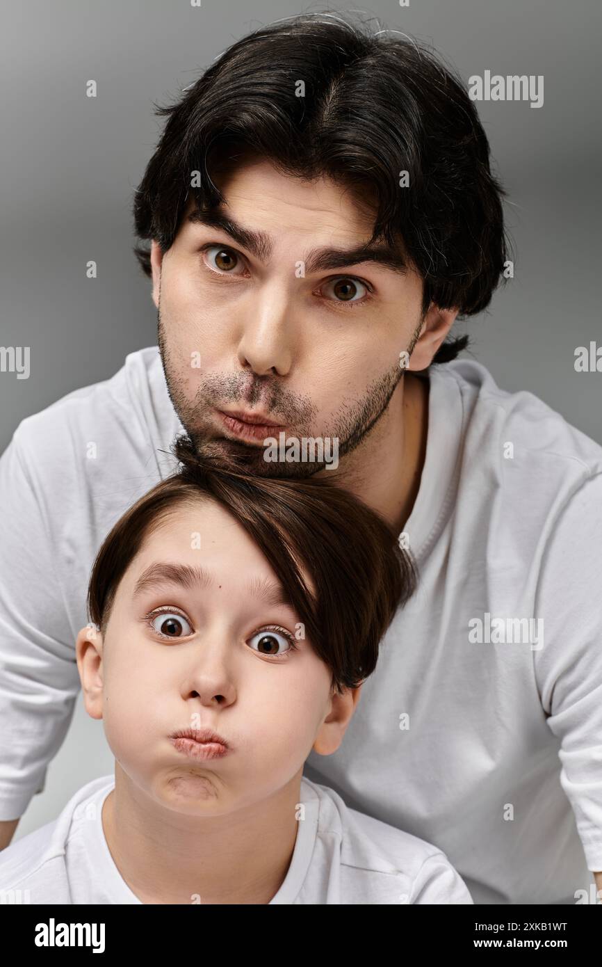
[[[31,903],[472,903],[436,847],[302,776],[341,743],[416,588],[378,514],[324,481],[197,461],[117,521],[77,636],[115,779],[0,855]]]

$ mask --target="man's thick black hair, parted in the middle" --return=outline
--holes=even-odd
[[[223,203],[213,165],[251,152],[284,174],[330,177],[375,198],[370,242],[401,246],[423,279],[423,315],[431,302],[459,318],[489,305],[507,258],[506,192],[461,77],[423,44],[339,15],[301,15],[244,37],[178,103],[155,107],[169,120],[135,195],[140,240],[167,251],[190,193],[199,211]],[[151,276],[148,247],[134,251]],[[468,342],[449,339],[433,363]]]

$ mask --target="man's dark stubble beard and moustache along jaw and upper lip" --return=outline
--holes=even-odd
[[[419,328],[412,338],[411,347],[409,348],[410,352],[414,348]],[[215,427],[214,425],[210,425],[209,422],[206,428],[202,425],[199,426],[199,413],[209,414],[215,407],[213,399],[217,398],[217,396],[212,398],[211,393],[208,394],[208,385],[210,384],[206,381],[200,387],[195,403],[191,404],[187,399],[186,381],[178,377],[177,367],[171,366],[167,340],[160,317],[160,308],[158,309],[158,349],[169,398],[181,424],[184,426],[197,453],[203,460],[215,463],[216,467],[224,470],[233,472],[243,471],[244,473],[257,477],[288,478],[293,480],[306,480],[327,468],[329,464],[325,460],[290,463],[285,461],[268,461],[264,459],[265,447],[257,446],[257,444],[247,445],[244,442],[231,440],[225,436],[215,436]],[[301,437],[322,439],[323,441],[329,438],[330,441],[338,439],[339,466],[337,469],[329,470],[332,478],[338,476],[342,471],[340,460],[346,454],[351,454],[355,451],[379,423],[387,411],[391,397],[400,379],[402,379],[404,372],[405,368],[399,366],[399,362],[396,360],[394,366],[391,366],[383,376],[378,377],[372,382],[362,399],[352,403],[349,409],[341,416],[333,432],[327,431],[324,434],[316,436],[309,428],[300,431],[298,428],[299,424],[296,425],[295,429],[287,426],[284,437],[285,445],[286,440],[290,437],[295,437],[298,440],[301,440]],[[242,375],[244,375],[244,379],[248,383],[248,376],[243,372],[238,375],[232,374],[226,377],[216,377],[215,390],[219,394],[219,405],[223,405],[231,397],[232,403],[241,408],[244,407],[244,403],[241,402]],[[257,390],[257,393],[254,396],[257,398],[261,395],[261,388],[265,382],[265,377],[256,377],[254,388]],[[305,419],[309,419],[312,415],[315,415],[315,408],[309,401],[305,404],[295,402],[290,406],[287,406],[287,402],[283,400],[280,400],[278,403],[276,399],[274,402],[276,403],[278,413],[286,415],[287,409],[289,409],[292,419],[299,419],[300,414]],[[275,439],[276,443],[279,443],[279,432],[274,427],[272,439]],[[330,453],[332,453],[332,443],[330,443]]]

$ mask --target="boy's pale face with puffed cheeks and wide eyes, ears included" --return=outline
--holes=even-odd
[[[169,581],[159,565],[202,568],[209,583]],[[104,640],[79,632],[86,710],[103,719],[123,772],[161,806],[216,815],[268,800],[301,776],[312,747],[329,754],[343,737],[359,689],[330,694],[330,669],[296,637],[292,608],[267,600],[271,584],[277,590],[240,524],[199,501],[144,542]],[[170,735],[187,727],[213,730],[227,753],[199,760],[178,750]]]

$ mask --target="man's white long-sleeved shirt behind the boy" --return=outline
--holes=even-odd
[[[341,747],[304,775],[436,844],[475,903],[574,903],[602,869],[602,448],[478,363],[429,378],[404,528],[419,586]],[[152,346],[23,420],[0,458],[0,819],[69,727],[100,543],[177,469],[182,431]]]

